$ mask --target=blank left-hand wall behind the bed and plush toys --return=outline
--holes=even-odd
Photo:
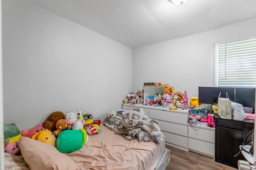
[[[25,0],[2,0],[4,123],[30,129],[50,113],[93,119],[122,108],[132,49]]]

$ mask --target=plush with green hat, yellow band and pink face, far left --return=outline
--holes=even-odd
[[[21,131],[20,129],[15,125],[15,123],[10,123],[4,125],[4,140],[5,142],[9,142],[6,145],[4,152],[7,152],[9,154],[17,155],[20,152],[20,137],[21,137]]]

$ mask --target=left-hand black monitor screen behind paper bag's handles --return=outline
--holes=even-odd
[[[231,87],[199,87],[198,88],[198,102],[203,104],[217,104],[218,96],[226,98],[228,92],[229,99],[235,101],[235,88]]]

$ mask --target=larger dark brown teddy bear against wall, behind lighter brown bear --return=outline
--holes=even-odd
[[[51,132],[56,131],[57,129],[56,129],[55,123],[60,119],[65,119],[64,113],[61,111],[54,111],[44,121],[43,123],[44,129],[48,129]]]

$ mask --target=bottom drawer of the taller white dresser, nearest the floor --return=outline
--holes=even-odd
[[[188,137],[183,137],[175,135],[172,133],[162,131],[163,135],[166,137],[165,141],[180,147],[188,148]]]

